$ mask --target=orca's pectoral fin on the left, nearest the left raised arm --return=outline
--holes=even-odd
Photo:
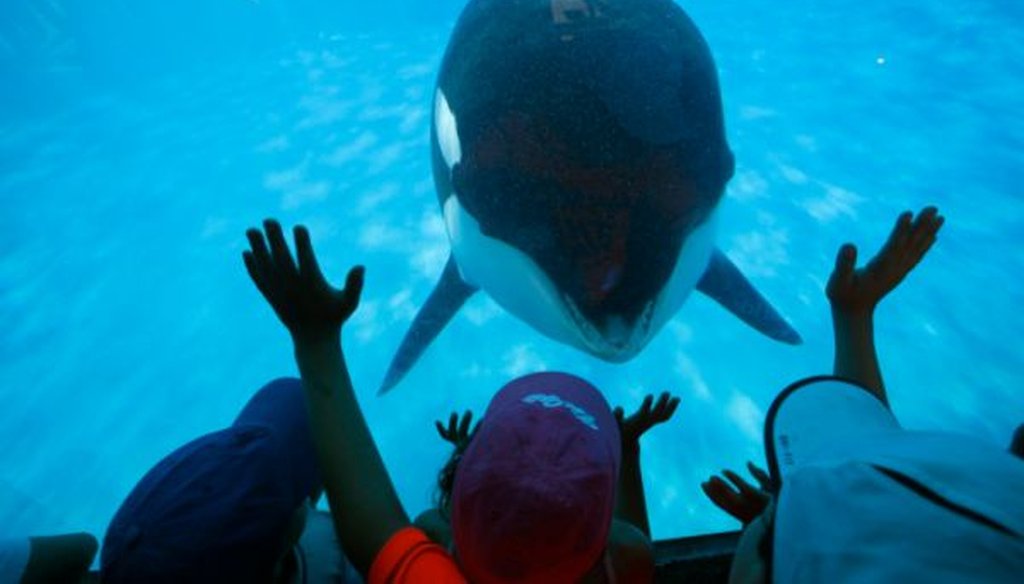
[[[401,339],[398,352],[391,359],[391,366],[388,367],[384,382],[381,383],[381,387],[377,391],[379,395],[386,393],[401,381],[406,373],[416,365],[427,346],[440,334],[452,317],[459,311],[459,308],[474,292],[476,292],[476,288],[463,282],[462,277],[459,276],[459,268],[455,264],[455,257],[450,255],[447,263],[444,264],[444,272],[441,273],[440,281],[430,293],[427,302],[413,319],[413,325],[406,333],[406,338]]]

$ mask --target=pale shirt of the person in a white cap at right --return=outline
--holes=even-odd
[[[776,582],[1024,582],[1024,461],[931,432],[901,431],[860,450],[783,481]]]

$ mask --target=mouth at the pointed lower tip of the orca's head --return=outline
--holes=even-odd
[[[618,315],[608,315],[601,324],[585,316],[568,294],[562,293],[562,302],[588,350],[607,361],[623,362],[647,344],[657,298],[648,300],[632,322]]]

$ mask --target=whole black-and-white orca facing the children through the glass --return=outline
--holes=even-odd
[[[636,356],[693,289],[801,342],[715,247],[734,160],[711,51],[672,0],[471,0],[430,143],[452,253],[381,393],[478,290],[609,362]]]

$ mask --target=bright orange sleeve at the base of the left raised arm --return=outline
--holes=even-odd
[[[395,532],[377,552],[367,584],[467,584],[455,559],[417,528]]]

